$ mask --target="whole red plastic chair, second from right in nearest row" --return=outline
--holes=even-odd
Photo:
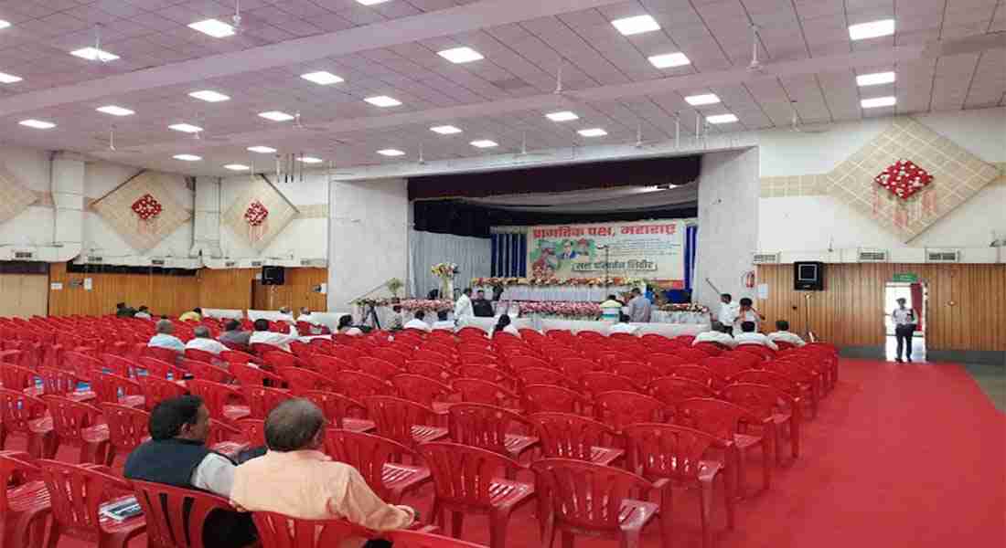
[[[450,511],[451,536],[457,538],[465,515],[488,514],[489,546],[505,548],[510,515],[534,499],[534,487],[497,474],[512,476],[524,468],[499,453],[460,443],[423,443],[420,453],[434,478],[430,519],[438,518],[443,528],[445,513]]]

